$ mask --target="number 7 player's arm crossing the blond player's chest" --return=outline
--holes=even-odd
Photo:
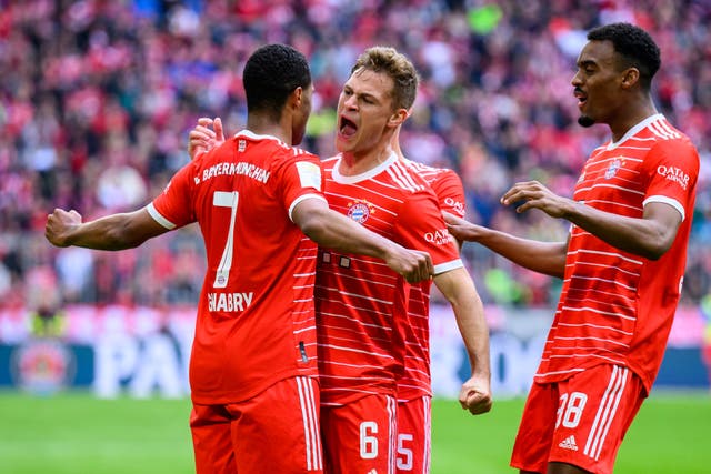
[[[359,253],[385,261],[410,283],[427,280],[434,269],[425,252],[408,250],[329,209],[321,199],[306,199],[296,205],[291,219],[312,241],[329,249]]]

